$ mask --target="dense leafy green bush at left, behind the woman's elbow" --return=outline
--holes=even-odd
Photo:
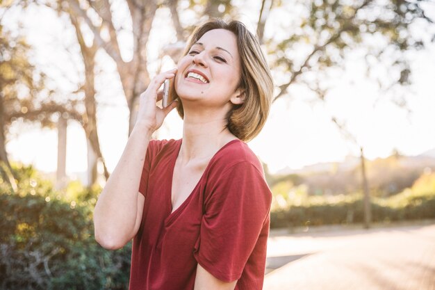
[[[65,198],[31,166],[15,170],[19,194],[0,182],[0,289],[127,289],[131,247],[95,242],[95,193]]]

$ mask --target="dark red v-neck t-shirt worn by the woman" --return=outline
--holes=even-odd
[[[133,239],[131,290],[191,290],[197,264],[238,290],[262,289],[272,194],[240,140],[224,145],[172,214],[181,140],[151,140],[140,181],[142,224]]]

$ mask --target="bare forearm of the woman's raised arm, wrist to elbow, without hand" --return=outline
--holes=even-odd
[[[98,198],[94,211],[95,239],[104,248],[122,248],[138,232],[145,200],[138,188],[150,136],[140,125],[134,127]]]

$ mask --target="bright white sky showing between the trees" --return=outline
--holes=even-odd
[[[51,10],[31,9],[26,17],[10,13],[7,19],[2,19],[2,23],[14,29],[17,21],[22,21],[27,40],[34,47],[35,61],[47,67],[47,74],[56,80],[59,89],[67,95],[81,81],[77,73],[82,69],[81,59],[67,52],[74,51],[75,35],[58,21],[58,16]],[[151,35],[155,45],[149,50],[149,58],[158,59],[159,45],[174,39],[173,31],[164,29],[168,11],[159,13],[162,13],[163,20],[155,25],[163,27],[165,33]],[[256,17],[246,17],[246,22],[251,24],[255,20]],[[128,33],[121,35],[120,42],[131,43],[129,37]],[[123,45],[122,49],[123,58],[129,58],[129,45]],[[268,122],[261,134],[249,142],[249,147],[261,161],[268,164],[271,172],[302,168],[314,163],[343,161],[346,156],[357,155],[359,147],[340,134],[331,122],[331,116],[334,115],[346,122],[349,131],[363,145],[368,159],[389,156],[393,150],[417,155],[434,149],[435,45],[413,54],[411,58],[412,85],[406,91],[411,113],[382,96],[384,93],[379,92],[375,83],[366,77],[364,59],[355,53],[347,61],[345,73],[337,74],[334,86],[327,95],[327,102],[307,102],[304,90],[293,87],[291,98],[283,97],[274,102]],[[113,61],[104,53],[98,54],[97,60],[98,129],[101,150],[111,172],[128,138],[129,112],[120,82],[114,73]],[[151,63],[149,69],[156,71],[159,65],[165,70],[174,64],[163,59]],[[174,111],[165,120],[159,137],[181,138],[181,131],[182,122]],[[32,163],[45,172],[56,170],[56,129],[38,129],[17,123],[11,127],[8,140],[6,150],[11,160]],[[73,177],[74,172],[85,171],[86,156],[83,129],[70,121],[67,129],[67,174]]]

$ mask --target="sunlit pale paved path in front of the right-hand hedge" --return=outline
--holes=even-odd
[[[272,232],[268,268],[263,290],[435,290],[435,223]]]

